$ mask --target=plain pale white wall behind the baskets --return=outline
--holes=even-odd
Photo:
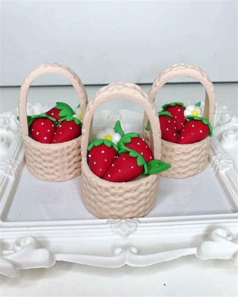
[[[84,84],[151,83],[180,62],[237,81],[237,2],[2,1],[1,85],[21,85],[45,62],[70,66]]]

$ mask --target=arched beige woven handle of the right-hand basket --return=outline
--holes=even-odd
[[[214,86],[208,75],[199,67],[191,64],[175,64],[160,73],[155,79],[150,91],[149,96],[154,101],[159,89],[166,84],[169,80],[176,77],[191,77],[199,81],[205,88],[205,104],[203,116],[207,118],[211,124],[214,121],[215,114],[215,93]],[[148,124],[148,117],[145,115],[143,125],[146,127]]]

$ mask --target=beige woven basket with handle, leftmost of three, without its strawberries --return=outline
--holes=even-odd
[[[34,79],[45,73],[60,74],[72,83],[79,98],[82,114],[84,114],[87,106],[87,93],[76,73],[59,64],[43,64],[36,67],[27,75],[21,86],[19,115],[27,168],[38,179],[59,182],[72,179],[81,173],[81,136],[56,144],[41,143],[29,136],[27,124],[28,90]]]

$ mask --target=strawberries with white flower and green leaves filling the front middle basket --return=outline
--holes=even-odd
[[[129,182],[140,175],[161,173],[171,166],[155,160],[150,147],[138,133],[125,134],[120,121],[113,129],[100,132],[88,145],[91,171],[109,182]]]

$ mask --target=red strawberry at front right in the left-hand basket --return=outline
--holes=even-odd
[[[61,143],[72,140],[81,135],[81,122],[74,116],[67,116],[64,120],[59,120],[56,133],[52,143]]]

